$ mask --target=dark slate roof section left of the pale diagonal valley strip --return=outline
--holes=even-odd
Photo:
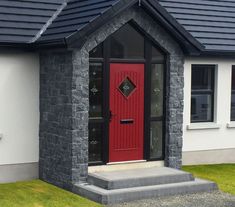
[[[0,42],[31,42],[63,2],[0,0]]]

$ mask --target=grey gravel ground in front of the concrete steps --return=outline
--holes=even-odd
[[[235,196],[216,191],[141,200],[111,207],[235,207]]]

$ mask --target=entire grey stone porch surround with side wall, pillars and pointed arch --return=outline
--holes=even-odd
[[[183,128],[183,64],[179,45],[141,8],[129,9],[91,34],[82,48],[41,55],[40,178],[70,189],[88,171],[89,51],[134,21],[169,54],[167,71],[167,166],[180,168]]]

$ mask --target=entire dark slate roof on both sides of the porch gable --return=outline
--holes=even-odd
[[[42,43],[68,39],[89,27],[121,1],[0,0],[0,43]],[[206,51],[235,52],[235,0],[142,2],[159,3],[161,9],[174,17],[184,32],[195,38]],[[178,23],[176,29],[179,28]]]

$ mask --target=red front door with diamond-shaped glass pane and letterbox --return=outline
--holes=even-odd
[[[143,159],[144,65],[110,65],[109,162]]]

